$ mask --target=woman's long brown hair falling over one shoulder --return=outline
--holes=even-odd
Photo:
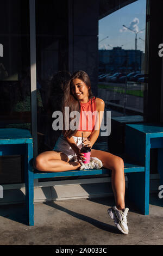
[[[82,80],[86,84],[86,86],[88,88],[88,93],[89,93],[89,100],[92,99],[92,97],[93,97],[93,94],[91,91],[91,81],[90,81],[89,76],[86,74],[86,72],[84,72],[82,70],[74,72],[72,74],[70,80],[67,82],[67,84],[65,86],[64,97],[62,100],[62,113],[63,113],[63,118],[64,118],[63,135],[65,137],[69,137],[69,138],[71,136],[73,136],[74,133],[76,133],[76,131],[77,131],[77,130],[70,129],[70,122],[73,119],[73,118],[69,118],[70,113],[72,111],[78,111],[80,113],[80,102],[72,94],[73,80],[76,78]],[[69,107],[68,115],[65,114],[65,107]],[[68,122],[68,120],[69,120],[69,122]],[[68,124],[69,130],[65,130],[65,124]]]

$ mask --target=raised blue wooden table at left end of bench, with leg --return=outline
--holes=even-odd
[[[26,184],[26,204],[28,220],[32,218],[33,206],[33,138],[28,130],[0,129],[0,155],[24,156],[24,179]],[[30,213],[30,214],[29,214]],[[30,224],[30,221],[29,221]]]

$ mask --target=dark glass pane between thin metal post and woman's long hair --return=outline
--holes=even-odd
[[[61,131],[52,129],[52,113],[60,110],[61,85],[68,72],[68,4],[36,1],[38,153],[52,150]]]

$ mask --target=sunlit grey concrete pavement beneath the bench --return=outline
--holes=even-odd
[[[114,198],[66,200],[34,205],[35,225],[26,225],[24,205],[2,205],[0,245],[163,245],[163,199],[150,195],[149,215],[126,199],[129,234],[108,216]]]

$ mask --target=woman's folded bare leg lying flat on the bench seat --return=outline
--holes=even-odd
[[[56,151],[45,151],[35,159],[35,168],[43,172],[64,172],[79,167],[79,162],[71,162],[64,153]]]

